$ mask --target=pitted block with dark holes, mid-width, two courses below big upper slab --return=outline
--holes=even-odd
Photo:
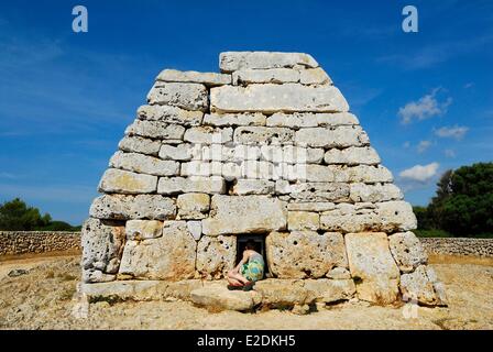
[[[294,131],[283,128],[240,127],[234,130],[234,143],[286,144],[293,143]]]

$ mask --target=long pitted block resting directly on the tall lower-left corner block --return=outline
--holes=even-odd
[[[161,195],[103,195],[92,201],[89,215],[98,219],[168,220],[176,216],[176,206]]]

